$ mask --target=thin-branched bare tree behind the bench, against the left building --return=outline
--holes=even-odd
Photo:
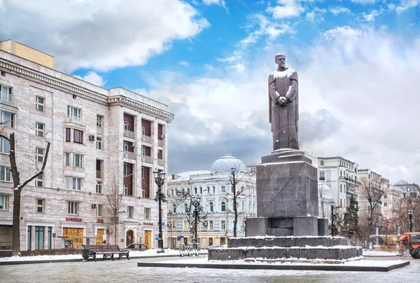
[[[117,225],[120,214],[123,214],[123,196],[120,194],[120,187],[116,176],[113,176],[111,186],[106,192],[106,214],[110,217],[110,223],[114,225],[114,243],[117,244]]]

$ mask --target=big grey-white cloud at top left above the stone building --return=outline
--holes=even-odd
[[[142,65],[190,39],[209,23],[180,0],[7,1],[0,38],[15,39],[55,56],[55,66],[108,70]],[[7,10],[7,15],[5,11]]]

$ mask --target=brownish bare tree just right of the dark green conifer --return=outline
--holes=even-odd
[[[382,196],[386,194],[388,187],[389,184],[386,179],[381,179],[379,183],[374,183],[365,177],[360,178],[356,185],[358,193],[362,197],[360,202],[364,201],[367,203],[367,223],[369,226],[372,226],[380,218],[381,212],[375,212],[375,209],[379,206],[379,202]],[[360,207],[362,206],[360,204]]]

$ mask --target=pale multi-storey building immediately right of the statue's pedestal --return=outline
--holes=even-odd
[[[358,164],[342,157],[318,157],[318,185],[325,184],[331,190],[337,212],[343,214],[356,195]]]

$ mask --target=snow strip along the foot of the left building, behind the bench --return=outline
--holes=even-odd
[[[148,249],[146,251],[130,251],[130,258],[131,257],[142,257],[142,256],[167,256],[167,255],[173,255],[178,256],[179,251],[174,249],[165,249],[165,253],[158,254],[157,249]],[[200,254],[205,252],[205,250],[200,251]],[[99,255],[99,258],[102,258],[101,255]],[[63,259],[83,259],[81,254],[65,254],[60,256],[10,256],[6,258],[0,258],[0,262],[3,261],[57,261],[57,260],[63,260]]]

